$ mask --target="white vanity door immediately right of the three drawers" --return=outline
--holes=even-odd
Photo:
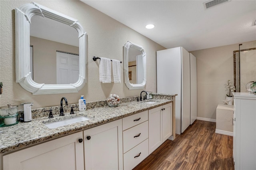
[[[151,154],[162,144],[162,117],[161,107],[148,111],[148,152]]]

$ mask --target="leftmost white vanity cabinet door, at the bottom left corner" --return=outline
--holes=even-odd
[[[82,132],[3,156],[4,170],[84,170]]]

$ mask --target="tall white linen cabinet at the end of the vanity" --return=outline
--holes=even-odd
[[[183,47],[157,51],[157,93],[176,96],[176,134],[197,117],[196,57]]]

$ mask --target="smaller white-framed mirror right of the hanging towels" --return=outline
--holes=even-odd
[[[124,83],[128,89],[143,89],[146,85],[146,52],[129,41],[124,45]]]

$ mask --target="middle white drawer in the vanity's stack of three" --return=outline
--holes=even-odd
[[[148,121],[123,131],[123,153],[148,138]]]

